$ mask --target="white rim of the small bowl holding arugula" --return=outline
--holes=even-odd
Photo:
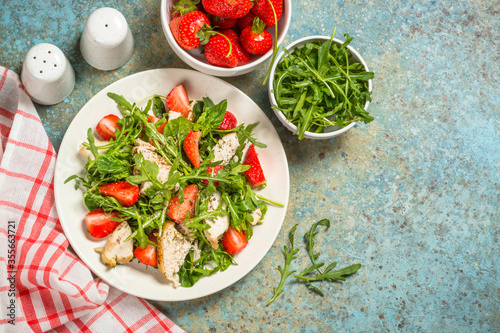
[[[288,45],[286,47],[286,49],[288,51],[292,51],[296,47],[296,45],[298,45],[298,44],[305,43],[305,42],[314,42],[314,41],[317,41],[317,40],[329,40],[330,38],[331,38],[330,36],[322,36],[322,35],[307,36],[307,37],[303,37],[303,38],[297,39],[296,41],[290,43],[290,45]],[[337,44],[343,44],[344,43],[344,41],[342,41],[340,39],[337,39],[337,38],[333,38],[333,41],[335,43],[337,43]],[[347,48],[349,49],[349,51],[351,51],[352,55],[354,57],[356,57],[361,64],[363,64],[363,66],[365,67],[365,70],[367,72],[369,72],[368,65],[366,64],[366,62],[363,59],[363,57],[361,57],[361,55],[351,45],[347,45]],[[276,102],[276,98],[274,97],[274,93],[272,93],[271,90],[273,89],[273,85],[274,85],[274,74],[276,72],[276,67],[282,61],[284,54],[285,54],[285,52],[281,51],[276,56],[276,61],[273,64],[273,68],[271,69],[271,73],[269,74],[268,89],[269,89],[269,97],[271,99],[271,105],[277,105],[278,104]],[[372,80],[371,79],[368,80],[368,91],[372,91]],[[365,103],[365,110],[368,109],[368,105],[370,105],[370,101],[366,101],[366,103]],[[273,110],[274,110],[274,113],[280,119],[281,122],[285,122],[285,123],[288,124],[287,127],[289,127],[289,129],[292,132],[295,133],[297,131],[297,126],[294,125],[294,124],[292,124],[291,122],[289,122],[288,119],[286,119],[286,117],[283,114],[283,112],[281,112],[279,110],[276,110],[276,109],[273,109]],[[304,133],[304,137],[308,138],[308,139],[329,139],[329,138],[332,138],[334,136],[338,136],[338,135],[340,135],[342,133],[347,132],[348,130],[350,130],[351,128],[353,128],[356,125],[356,123],[357,122],[352,122],[349,125],[347,125],[345,127],[342,127],[342,128],[340,128],[340,129],[338,129],[336,131],[332,131],[332,132],[315,133],[315,132],[306,131]]]

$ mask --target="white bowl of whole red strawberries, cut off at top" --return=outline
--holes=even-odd
[[[291,0],[162,0],[160,15],[165,37],[182,61],[228,77],[247,74],[271,58],[291,14]]]

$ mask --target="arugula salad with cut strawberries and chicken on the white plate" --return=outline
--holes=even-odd
[[[108,93],[122,117],[101,119],[103,140],[88,129],[85,174],[66,182],[83,190],[89,233],[108,237],[96,248],[104,264],[137,258],[174,287],[191,287],[234,263],[277,203],[254,192],[266,184],[257,124],[237,124],[226,100],[190,102],[180,86],[137,104]]]

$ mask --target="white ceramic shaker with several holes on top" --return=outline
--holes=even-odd
[[[75,72],[57,46],[40,43],[26,54],[21,81],[34,102],[53,105],[71,94]]]

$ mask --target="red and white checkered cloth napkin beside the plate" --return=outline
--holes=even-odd
[[[56,154],[12,71],[0,67],[0,331],[184,332],[148,302],[94,279],[54,204]]]

